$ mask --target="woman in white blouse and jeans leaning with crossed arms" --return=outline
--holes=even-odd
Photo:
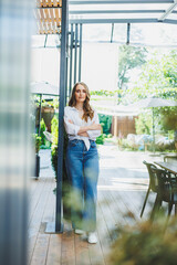
[[[86,232],[88,243],[96,243],[98,155],[95,139],[101,135],[101,125],[83,82],[73,87],[64,109],[64,126],[69,136],[66,170],[72,184],[72,224],[75,233]]]

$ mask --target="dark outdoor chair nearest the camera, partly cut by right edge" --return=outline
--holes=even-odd
[[[162,206],[163,201],[168,203],[168,216],[171,213],[173,205],[175,205],[175,214],[177,213],[177,179],[171,174],[158,168],[152,168],[152,173],[157,178],[157,197],[152,211],[150,219]]]

